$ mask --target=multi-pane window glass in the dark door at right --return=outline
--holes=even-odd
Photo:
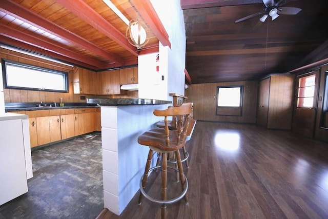
[[[313,107],[316,75],[300,77],[298,80],[297,107]]]

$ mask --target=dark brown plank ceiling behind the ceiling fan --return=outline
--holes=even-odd
[[[265,23],[258,15],[235,24],[262,11],[262,0],[181,0],[192,83],[257,80],[328,58],[328,1],[284,6],[302,10]]]

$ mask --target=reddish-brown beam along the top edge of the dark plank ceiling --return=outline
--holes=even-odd
[[[180,0],[181,9],[263,4],[262,0]]]

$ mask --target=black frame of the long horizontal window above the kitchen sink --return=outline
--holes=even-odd
[[[2,62],[2,77],[3,77],[3,85],[5,89],[17,89],[17,90],[33,90],[33,91],[47,91],[47,92],[59,92],[59,93],[68,93],[69,92],[69,83],[68,83],[68,73],[64,71],[59,71],[59,70],[54,70],[54,69],[49,69],[49,68],[44,68],[40,66],[34,66],[26,63],[20,63],[16,61],[12,61],[9,59],[1,59]],[[54,90],[54,89],[46,89],[46,88],[31,88],[31,87],[17,87],[17,86],[11,86],[8,85],[7,83],[7,64],[15,65],[21,68],[27,68],[27,69],[32,69],[32,70],[37,70],[41,72],[47,72],[47,73],[52,73],[52,74],[60,74],[64,76],[64,90]]]

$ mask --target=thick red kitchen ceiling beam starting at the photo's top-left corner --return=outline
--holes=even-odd
[[[91,52],[100,55],[102,57],[108,58],[110,61],[113,61],[115,63],[124,64],[124,60],[122,58],[117,57],[116,55],[113,55],[111,53],[108,53],[107,51],[97,47],[96,45],[90,43],[89,41],[86,41],[86,39],[77,36],[76,34],[67,31],[66,29],[49,22],[44,17],[33,13],[24,7],[8,1],[3,0],[3,4],[0,6],[0,10],[4,11],[13,17],[16,17],[28,24],[31,24],[35,27],[38,27],[46,32],[49,32],[55,36],[58,36],[60,38],[65,39],[66,41],[69,41],[79,47],[82,47],[84,49],[90,50]]]

